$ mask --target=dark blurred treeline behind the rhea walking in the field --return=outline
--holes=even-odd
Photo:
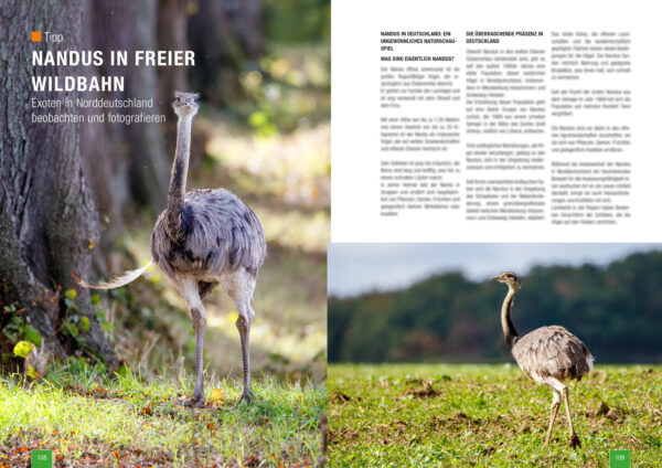
[[[607,266],[537,266],[521,280],[512,312],[520,336],[560,325],[598,363],[662,362],[661,252]],[[510,362],[500,321],[506,291],[447,272],[399,290],[330,297],[329,361]]]

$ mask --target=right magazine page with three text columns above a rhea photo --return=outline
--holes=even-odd
[[[660,466],[658,22],[333,2],[330,466]]]

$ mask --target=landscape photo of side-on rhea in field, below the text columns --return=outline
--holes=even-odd
[[[662,245],[331,244],[328,278],[332,466],[662,455]]]

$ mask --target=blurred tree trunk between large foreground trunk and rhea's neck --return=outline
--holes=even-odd
[[[125,91],[99,93],[99,97],[126,99],[154,98],[153,108],[116,108],[114,113],[161,113],[157,68],[135,66],[136,50],[157,50],[156,0],[105,0],[85,2],[86,46],[104,52],[127,51],[128,66],[111,66],[109,61],[96,68],[99,75],[125,76]],[[93,110],[94,111],[94,110]],[[159,124],[93,124],[84,126],[85,172],[102,212],[113,215],[116,230],[122,227],[127,201],[159,212],[168,193],[170,161]]]

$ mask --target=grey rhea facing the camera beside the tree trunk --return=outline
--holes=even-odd
[[[124,286],[145,273],[154,262],[174,283],[193,321],[195,330],[195,389],[186,406],[204,406],[202,349],[206,311],[202,300],[218,284],[238,310],[236,327],[242,342],[244,391],[239,402],[250,402],[255,394],[250,384],[248,338],[255,311],[250,305],[257,273],[267,255],[261,225],[255,213],[236,195],[224,189],[185,192],[191,127],[197,113],[197,94],[174,94],[172,103],[179,120],[174,162],[170,174],[168,202],[159,215],[151,236],[152,259],[142,268],[103,284],[82,286],[111,289]]]

